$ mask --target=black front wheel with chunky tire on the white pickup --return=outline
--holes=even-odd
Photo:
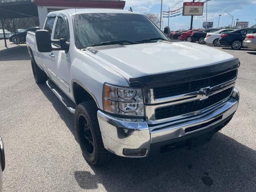
[[[92,165],[108,162],[112,156],[103,145],[97,118],[97,106],[92,101],[78,104],[75,111],[75,127],[78,142],[85,160]]]

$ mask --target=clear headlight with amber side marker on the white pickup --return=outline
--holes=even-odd
[[[131,89],[110,84],[103,88],[104,111],[130,116],[144,116],[141,89]]]

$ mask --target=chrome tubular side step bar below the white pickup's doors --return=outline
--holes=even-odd
[[[73,114],[75,113],[75,108],[76,105],[74,104],[74,102],[72,102],[72,100],[70,100],[70,98],[68,98],[61,90],[60,88],[58,88],[58,86],[56,86],[52,80],[48,79],[46,81],[46,85],[52,90],[52,92],[54,92],[54,94],[59,98],[59,100],[64,104],[64,106],[66,106],[66,108],[72,112]]]

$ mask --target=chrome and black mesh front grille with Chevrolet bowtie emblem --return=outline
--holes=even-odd
[[[148,124],[190,118],[222,104],[232,94],[236,76],[237,69],[210,78],[165,86],[167,90],[145,89]]]

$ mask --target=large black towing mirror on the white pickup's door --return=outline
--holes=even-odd
[[[36,31],[36,44],[39,52],[51,52],[52,41],[51,35],[48,30],[37,30]]]

